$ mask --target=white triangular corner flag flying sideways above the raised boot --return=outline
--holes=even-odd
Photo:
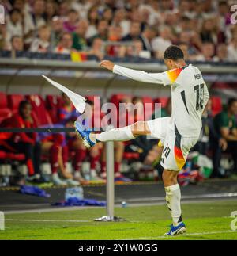
[[[86,101],[85,97],[82,97],[79,94],[75,94],[73,91],[69,90],[65,86],[62,86],[60,83],[55,82],[55,81],[51,80],[50,78],[47,78],[47,76],[45,76],[45,75],[42,75],[42,76],[48,82],[50,82],[51,85],[57,87],[59,90],[62,90],[62,92],[64,92],[70,98],[74,107],[77,109],[77,111],[79,113],[84,113],[84,111],[85,111],[85,101]]]

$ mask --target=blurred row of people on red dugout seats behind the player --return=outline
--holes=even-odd
[[[40,95],[4,93],[0,93],[0,97],[2,128],[73,128],[73,122],[78,118],[78,113],[65,94],[47,95],[45,99]],[[88,105],[91,106],[87,114],[92,120],[92,127],[96,127],[103,117],[96,99],[98,97],[87,97]],[[167,97],[152,99],[114,94],[108,101],[114,103],[117,109],[119,103],[133,103],[136,106],[135,112],[128,107],[118,117],[126,120],[126,125],[144,120],[144,110],[148,103],[152,106],[155,102],[160,103],[161,117],[171,115],[171,100]],[[154,107],[152,109],[150,118],[154,118],[157,111]],[[182,184],[236,173],[236,117],[237,99],[229,99],[223,109],[220,97],[211,97],[203,113],[200,139],[179,174]],[[158,179],[162,174],[159,161],[162,147],[158,143],[157,139],[147,139],[146,136],[125,143],[115,142],[115,181]],[[225,165],[221,159],[225,159]],[[76,132],[1,132],[0,161],[0,178],[5,182],[2,181],[2,185],[21,184],[25,178],[37,183],[52,181],[55,185],[77,185],[78,182],[87,184],[106,179],[104,145],[97,143],[87,150]],[[11,166],[11,171],[4,169],[7,166]],[[15,180],[10,181],[9,178]]]

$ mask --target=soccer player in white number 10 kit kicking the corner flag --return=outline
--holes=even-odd
[[[171,117],[138,121],[123,128],[114,128],[97,134],[84,130],[78,122],[75,122],[75,127],[86,147],[92,147],[97,142],[125,141],[142,135],[151,135],[160,139],[164,146],[161,165],[164,167],[166,202],[173,220],[167,235],[178,235],[186,231],[186,226],[182,222],[181,193],[177,175],[186,162],[190,148],[198,141],[201,114],[209,99],[209,92],[201,71],[198,67],[186,64],[183,52],[178,46],[171,45],[166,49],[164,63],[168,71],[162,73],[135,71],[107,60],[103,60],[100,66],[140,82],[171,86]]]

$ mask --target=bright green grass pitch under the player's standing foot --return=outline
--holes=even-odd
[[[236,210],[237,201],[183,204],[188,231],[175,238],[163,236],[171,224],[166,205],[115,208],[127,220],[122,223],[92,221],[105,215],[104,208],[7,214],[0,239],[237,239],[230,228]]]

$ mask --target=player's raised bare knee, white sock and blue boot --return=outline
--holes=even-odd
[[[135,124],[123,128],[113,128],[107,132],[101,133],[87,131],[79,122],[75,122],[75,128],[77,133],[81,136],[85,147],[92,147],[97,142],[106,142],[111,140],[126,141],[134,139],[137,136],[149,135],[151,133],[149,125],[145,121],[138,121]]]

